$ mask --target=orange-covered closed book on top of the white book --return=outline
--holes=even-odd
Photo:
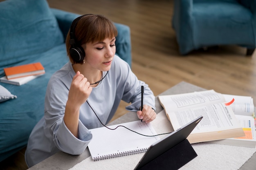
[[[4,68],[4,73],[7,79],[14,79],[18,77],[25,77],[28,75],[40,75],[45,73],[45,68],[40,62],[24,64],[20,66],[13,66]]]

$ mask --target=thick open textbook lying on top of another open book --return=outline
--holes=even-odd
[[[231,106],[225,104],[225,97],[214,90],[160,95],[158,99],[174,130],[203,116],[187,138],[191,144],[245,136]]]

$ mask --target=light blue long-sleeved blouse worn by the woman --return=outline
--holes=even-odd
[[[103,72],[103,76],[107,72]],[[107,124],[115,114],[119,103],[131,103],[127,110],[137,111],[141,105],[141,86],[144,86],[144,104],[155,109],[155,96],[145,82],[137,79],[130,66],[115,55],[108,75],[92,89],[92,93],[79,113],[79,138],[74,137],[63,121],[70,84],[76,73],[68,62],[49,80],[45,95],[45,115],[32,130],[25,158],[29,167],[54,155],[59,150],[80,155],[92,139],[89,129],[101,127],[101,123],[88,105]]]

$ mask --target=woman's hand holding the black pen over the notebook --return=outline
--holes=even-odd
[[[143,105],[143,109],[137,111],[137,116],[139,119],[142,119],[146,123],[153,121],[157,114],[155,113],[155,110],[152,109],[151,106]]]

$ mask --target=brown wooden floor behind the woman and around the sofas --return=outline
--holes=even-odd
[[[48,0],[49,6],[79,14],[97,13],[130,26],[132,71],[155,95],[185,81],[206,89],[256,99],[256,54],[220,46],[181,56],[171,27],[172,0]],[[255,101],[254,101],[254,104]],[[121,102],[113,119],[127,111]],[[24,151],[0,163],[0,170],[24,170]],[[22,157],[23,154],[23,157]]]

